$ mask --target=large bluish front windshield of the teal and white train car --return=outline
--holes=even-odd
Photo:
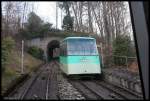
[[[68,55],[98,55],[94,39],[68,40]]]

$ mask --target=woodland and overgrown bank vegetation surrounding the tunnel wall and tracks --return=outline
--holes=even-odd
[[[100,46],[103,67],[133,67],[138,71],[128,2],[64,1],[55,2],[56,23],[36,14],[36,2],[2,2],[2,92],[21,72],[21,41],[57,36],[95,37]],[[47,14],[51,12],[46,12]],[[48,16],[47,16],[48,17]],[[61,20],[59,20],[61,18]],[[61,21],[61,28],[58,24]],[[25,73],[44,63],[43,50],[24,48]]]

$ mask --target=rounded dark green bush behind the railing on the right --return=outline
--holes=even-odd
[[[131,43],[129,36],[119,35],[113,42],[113,54],[117,56],[135,56],[135,47]],[[114,63],[125,65],[125,58],[114,57]]]

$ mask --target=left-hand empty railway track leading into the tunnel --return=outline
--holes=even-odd
[[[44,65],[36,75],[33,75],[20,89],[13,91],[6,99],[59,99],[54,67],[54,62]]]

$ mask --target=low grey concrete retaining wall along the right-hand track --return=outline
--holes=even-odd
[[[125,76],[118,75],[117,73],[114,74],[113,72],[111,73],[107,71],[102,71],[103,79],[105,81],[108,81],[111,84],[117,85],[131,92],[135,92],[138,95],[143,95],[139,76],[128,78]]]

